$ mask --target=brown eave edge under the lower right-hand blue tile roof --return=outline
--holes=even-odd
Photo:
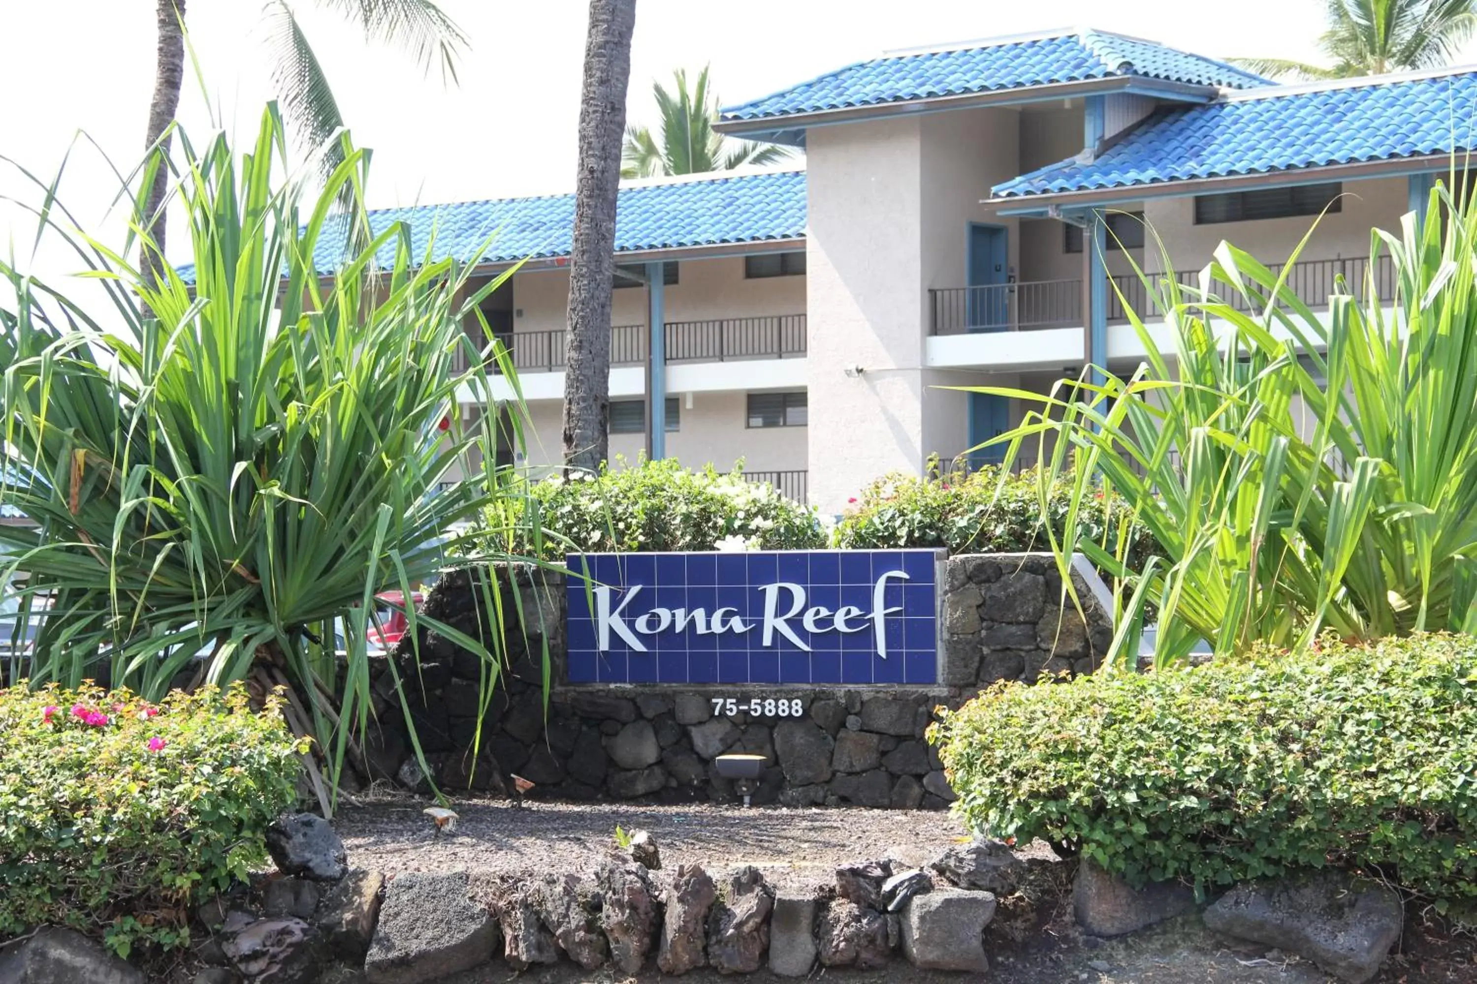
[[[1465,150],[1458,153],[1465,153]],[[1284,168],[1258,174],[1227,174],[1224,177],[1096,187],[1084,192],[1009,195],[1004,198],[987,198],[981,204],[990,205],[1000,215],[1047,215],[1059,218],[1062,214],[1071,211],[1128,205],[1151,198],[1180,198],[1186,195],[1239,192],[1255,187],[1288,187],[1292,184],[1322,184],[1325,181],[1357,181],[1375,177],[1431,174],[1450,171],[1453,159],[1452,153],[1436,153],[1391,161],[1356,161],[1323,167]]]

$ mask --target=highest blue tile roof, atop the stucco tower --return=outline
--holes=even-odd
[[[1084,30],[1056,37],[985,41],[978,47],[857,62],[772,96],[727,106],[722,119],[767,119],[1094,78],[1140,78],[1226,89],[1270,84],[1245,69],[1155,41]]]

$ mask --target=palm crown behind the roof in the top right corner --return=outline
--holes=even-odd
[[[1273,78],[1351,78],[1443,65],[1477,28],[1474,0],[1326,0],[1319,47],[1332,68],[1281,58],[1233,58]]]

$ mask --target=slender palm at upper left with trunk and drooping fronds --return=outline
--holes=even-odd
[[[157,149],[145,171],[143,204],[139,224],[146,235],[140,245],[139,266],[148,283],[154,283],[164,257],[165,223],[160,221],[168,176],[170,124],[179,109],[180,86],[185,80],[185,1],[157,0],[158,49],[155,55],[154,99],[149,103],[149,125],[145,148]],[[443,80],[456,80],[456,53],[467,46],[461,28],[433,0],[315,0],[363,30],[366,41],[387,41],[406,49],[418,63],[431,68],[440,63]],[[288,0],[269,0],[263,15],[269,27],[272,84],[278,100],[292,122],[301,146],[322,148],[344,125],[338,100],[328,86],[328,77],[313,53]],[[325,173],[343,161],[343,150],[328,148]],[[149,254],[154,255],[149,255]]]

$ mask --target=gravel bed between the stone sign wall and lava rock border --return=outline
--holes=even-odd
[[[783,810],[778,807],[647,807],[620,804],[458,801],[452,834],[434,836],[419,800],[346,807],[334,819],[349,863],[387,875],[465,870],[532,875],[594,865],[619,825],[648,831],[666,867],[707,870],[755,865],[771,884],[832,884],[843,862],[892,857],[922,866],[964,829],[947,813],[913,810]]]

